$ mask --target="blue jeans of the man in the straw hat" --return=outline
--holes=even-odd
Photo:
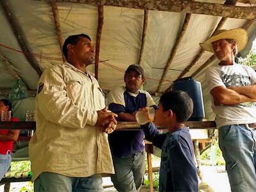
[[[231,191],[256,191],[256,129],[225,125],[219,129],[219,143],[226,161]]]

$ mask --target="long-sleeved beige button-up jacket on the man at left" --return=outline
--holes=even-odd
[[[38,82],[36,132],[29,142],[33,179],[114,173],[108,135],[95,127],[104,93],[91,74],[69,63],[47,68]]]

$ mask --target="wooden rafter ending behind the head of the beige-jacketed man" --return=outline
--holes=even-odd
[[[52,7],[52,14],[53,14],[53,19],[55,23],[55,28],[56,28],[56,33],[58,36],[58,42],[60,45],[60,51],[62,55],[63,62],[66,61],[65,56],[63,55],[62,52],[62,45],[63,45],[63,40],[62,40],[62,34],[61,34],[61,26],[60,26],[60,17],[59,17],[59,10],[58,10],[58,5],[56,3],[56,0],[51,0],[50,1],[51,7]]]

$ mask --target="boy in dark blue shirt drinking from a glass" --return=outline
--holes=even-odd
[[[198,191],[193,143],[189,127],[184,125],[192,113],[188,93],[166,92],[160,98],[154,124],[168,132],[160,133],[152,123],[141,125],[145,138],[162,149],[159,191]]]

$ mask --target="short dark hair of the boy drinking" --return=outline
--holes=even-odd
[[[161,96],[159,103],[162,104],[164,111],[172,109],[179,123],[186,122],[193,113],[193,100],[186,92],[166,92]]]

